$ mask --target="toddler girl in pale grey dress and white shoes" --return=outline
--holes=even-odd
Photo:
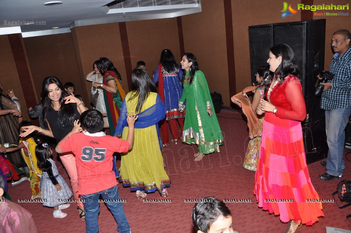
[[[54,208],[54,218],[65,218],[66,213],[62,209],[66,209],[70,204],[66,204],[73,196],[66,181],[59,174],[54,160],[50,158],[52,155],[51,146],[47,143],[41,143],[35,148],[35,154],[38,158],[38,167],[43,171],[40,181],[41,199],[46,199],[42,202],[43,206]]]

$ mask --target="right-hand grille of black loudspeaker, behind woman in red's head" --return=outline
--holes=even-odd
[[[302,85],[302,93],[305,96],[305,74],[306,74],[306,27],[305,23],[299,25],[274,26],[274,44],[284,43],[293,50],[300,75],[299,79]]]

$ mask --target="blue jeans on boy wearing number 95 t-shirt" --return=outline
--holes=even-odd
[[[97,193],[80,195],[81,199],[85,199],[85,225],[86,233],[97,233],[99,231],[98,215],[100,212],[100,195],[103,200],[119,200],[117,185],[110,189],[102,190]],[[111,210],[114,219],[117,221],[117,231],[119,233],[130,233],[129,223],[124,214],[123,205],[121,202],[106,202],[107,207]]]

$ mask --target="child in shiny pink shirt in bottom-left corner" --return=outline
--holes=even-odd
[[[4,199],[4,179],[0,176],[0,199]],[[5,199],[0,201],[0,229],[1,232],[37,233],[32,214],[25,208]]]

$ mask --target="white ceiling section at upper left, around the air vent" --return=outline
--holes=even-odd
[[[13,28],[9,27],[16,26],[20,26],[22,34],[35,36],[67,32],[75,26],[171,18],[201,12],[200,0],[195,4],[185,4],[191,2],[189,0],[124,0],[121,1],[123,8],[115,9],[106,6],[112,0],[59,0],[61,5],[45,6],[48,1],[53,0],[0,0],[1,34],[11,33]],[[131,4],[146,3],[151,3],[151,6],[130,7]],[[35,25],[23,25],[27,22]],[[60,27],[60,30],[52,27]]]

